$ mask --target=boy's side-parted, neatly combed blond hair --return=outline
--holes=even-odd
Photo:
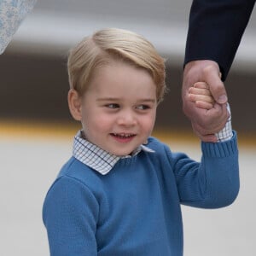
[[[147,39],[117,28],[95,32],[70,50],[67,61],[70,87],[82,96],[96,71],[112,61],[125,61],[146,69],[156,85],[158,102],[162,100],[166,90],[164,59]]]

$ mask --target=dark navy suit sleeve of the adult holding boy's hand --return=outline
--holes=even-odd
[[[226,79],[255,0],[194,0],[184,64],[195,60],[218,62]]]

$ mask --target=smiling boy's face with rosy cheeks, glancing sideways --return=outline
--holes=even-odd
[[[81,99],[81,122],[90,143],[127,155],[154,128],[156,85],[149,73],[123,62],[102,67]]]

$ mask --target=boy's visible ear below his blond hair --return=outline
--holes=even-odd
[[[82,119],[82,99],[77,90],[70,89],[67,95],[68,107],[73,119]]]

